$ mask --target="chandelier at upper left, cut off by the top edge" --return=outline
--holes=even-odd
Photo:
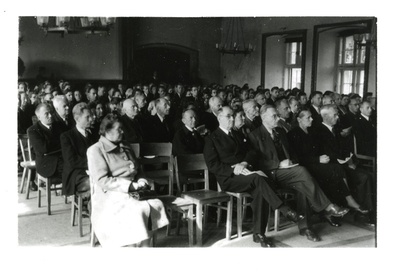
[[[115,17],[63,17],[37,16],[36,22],[45,32],[61,34],[89,34],[110,35],[110,29],[115,24]]]

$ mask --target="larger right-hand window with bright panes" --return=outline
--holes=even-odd
[[[355,46],[353,35],[340,37],[338,57],[338,92],[343,94],[354,92],[362,96],[365,46]]]

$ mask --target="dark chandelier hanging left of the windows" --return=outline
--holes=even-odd
[[[227,31],[222,35],[223,42],[215,45],[222,54],[250,54],[255,50],[252,44],[244,39],[242,18],[230,18]]]

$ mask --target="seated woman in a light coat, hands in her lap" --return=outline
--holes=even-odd
[[[103,247],[148,246],[152,231],[168,224],[158,199],[138,201],[129,195],[148,184],[129,144],[121,142],[122,128],[113,114],[100,125],[100,140],[88,151],[92,183],[92,229]]]

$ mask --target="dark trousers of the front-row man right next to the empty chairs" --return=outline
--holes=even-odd
[[[273,189],[273,181],[257,174],[233,176],[223,184],[223,188],[226,191],[248,192],[251,195],[253,198],[251,208],[253,210],[254,234],[265,233],[268,224],[269,205],[276,209],[283,204]]]

